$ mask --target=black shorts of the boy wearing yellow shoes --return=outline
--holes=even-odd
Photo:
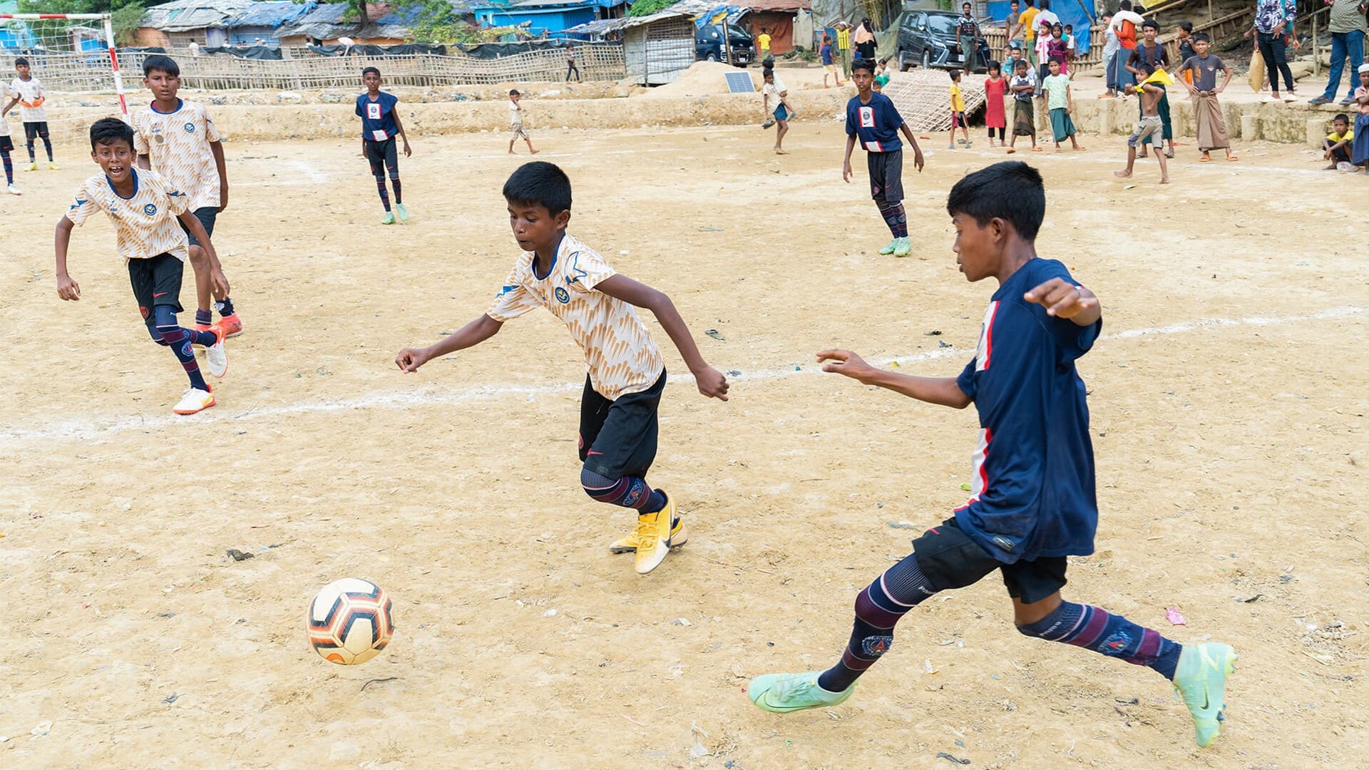
[[[580,397],[580,462],[606,478],[646,477],[656,459],[656,411],[665,390],[665,373],[641,393],[608,400],[585,377]]]

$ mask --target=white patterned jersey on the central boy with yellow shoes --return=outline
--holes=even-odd
[[[535,256],[523,252],[486,315],[504,322],[535,307],[552,311],[585,351],[590,385],[605,399],[654,385],[665,371],[665,359],[637,308],[594,290],[616,274],[608,262],[572,236],[561,238],[546,275],[534,273]]]

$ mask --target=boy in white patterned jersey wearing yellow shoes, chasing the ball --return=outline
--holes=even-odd
[[[552,163],[527,163],[504,184],[509,225],[523,255],[485,315],[427,348],[405,348],[402,371],[493,337],[505,321],[537,307],[560,318],[585,351],[587,375],[580,401],[580,485],[601,501],[637,508],[632,534],[609,547],[635,551],[638,574],[656,569],[684,543],[675,500],[646,484],[656,459],[657,419],[665,362],[637,316],[645,307],[669,334],[705,396],[727,400],[727,380],[704,362],[689,327],[664,293],[620,275],[602,256],[565,233],[571,181]]]

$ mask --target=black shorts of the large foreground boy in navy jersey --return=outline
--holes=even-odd
[[[1032,604],[1065,586],[1065,558],[1042,559],[1005,564],[994,559],[965,534],[956,519],[946,519],[913,541],[917,569],[936,591],[965,588],[979,582],[994,570],[1002,570],[1008,595]]]

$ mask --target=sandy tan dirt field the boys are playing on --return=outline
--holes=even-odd
[[[1173,185],[1150,162],[1128,189],[1110,175],[1121,138],[1017,155],[1049,185],[1040,252],[1106,306],[1080,366],[1098,552],[1072,559],[1066,595],[1239,649],[1224,736],[1197,751],[1165,681],[1017,634],[993,578],[910,614],[842,707],[775,717],[742,692],[828,666],[856,592],[965,497],[973,410],[823,375],[812,352],[960,370],[994,286],[957,273],[945,195],[1001,155],[924,142],[906,179],[919,251],[895,260],[875,253],[864,170],[841,182],[838,123],[795,126],[786,158],[756,127],[534,138],[576,185],[571,230],[668,292],[734,373],[730,403],[686,380],[663,404],[652,481],[689,545],[648,577],[608,554],[631,522],[579,489],[583,362],[549,314],[416,375],[393,364],[481,314],[517,256],[498,190],[527,156],[502,136],[416,141],[413,219],[394,227],[353,140],[229,144],[215,240],[246,333],[219,406],[192,418],[171,414],[185,378],[146,338],[107,222],[74,236],[82,301],[56,299],[52,225],[94,170],[67,147],[64,170],[0,199],[0,766],[1364,756],[1362,177],[1272,144],[1199,166],[1188,145]],[[357,667],[304,633],[314,592],[346,575],[396,600],[392,647]]]

